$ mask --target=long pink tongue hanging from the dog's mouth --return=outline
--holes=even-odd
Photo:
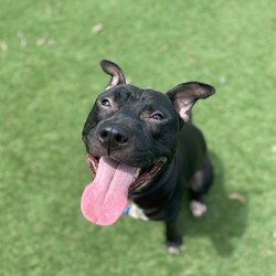
[[[127,206],[128,188],[135,168],[102,157],[96,178],[82,195],[82,212],[86,220],[97,225],[112,225]]]

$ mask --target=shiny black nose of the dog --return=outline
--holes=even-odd
[[[99,131],[99,141],[108,150],[120,149],[128,142],[128,135],[119,125],[103,126]]]

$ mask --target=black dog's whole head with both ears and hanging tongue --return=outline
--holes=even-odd
[[[82,210],[89,221],[109,225],[123,213],[127,194],[150,183],[170,163],[193,104],[214,88],[192,82],[162,94],[127,85],[115,63],[100,65],[112,78],[83,129],[94,183],[83,194]]]

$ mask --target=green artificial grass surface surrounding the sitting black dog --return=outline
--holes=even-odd
[[[0,275],[276,275],[275,1],[0,7]],[[81,131],[109,79],[102,59],[141,87],[216,87],[193,110],[216,180],[204,217],[183,206],[178,257],[161,223],[97,227],[81,214],[91,181]]]

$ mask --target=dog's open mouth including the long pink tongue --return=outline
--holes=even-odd
[[[94,181],[82,195],[83,215],[92,223],[112,225],[124,213],[128,194],[148,184],[163,168],[167,158],[160,158],[145,168],[134,168],[109,157],[87,156]]]

